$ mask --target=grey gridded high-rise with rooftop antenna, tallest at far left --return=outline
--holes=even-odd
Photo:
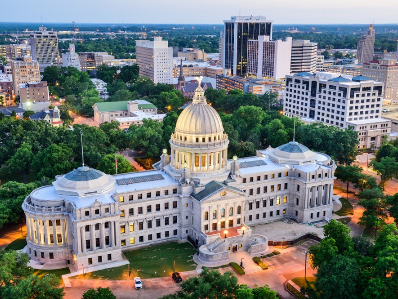
[[[58,65],[58,36],[54,31],[48,31],[46,27],[41,26],[39,31],[30,34],[30,45],[32,46],[32,57],[37,60],[40,71],[47,66]]]

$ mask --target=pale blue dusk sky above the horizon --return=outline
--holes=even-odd
[[[264,15],[276,24],[397,23],[397,0],[19,0],[2,22],[221,24]],[[381,6],[378,6],[378,4]]]

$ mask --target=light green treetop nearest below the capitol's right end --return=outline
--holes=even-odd
[[[348,226],[334,219],[331,219],[323,227],[325,238],[332,238],[336,241],[339,254],[346,254],[352,251],[354,244],[350,236],[350,231]]]

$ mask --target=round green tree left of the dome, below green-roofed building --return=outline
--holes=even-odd
[[[132,147],[148,157],[159,155],[164,147],[162,124],[152,119],[143,119],[141,126],[131,125],[127,134]]]

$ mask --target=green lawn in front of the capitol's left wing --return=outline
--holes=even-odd
[[[136,276],[143,279],[171,276],[174,261],[176,261],[177,272],[195,270],[197,264],[193,261],[194,254],[196,250],[190,243],[177,242],[124,252],[130,262],[130,279]],[[73,278],[128,280],[128,265],[90,272],[84,277],[78,275]]]

